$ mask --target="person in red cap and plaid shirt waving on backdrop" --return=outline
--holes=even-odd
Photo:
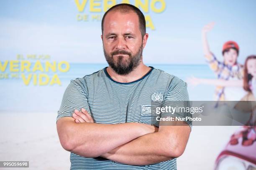
[[[237,62],[239,46],[234,41],[225,42],[222,48],[223,62],[218,61],[215,55],[210,52],[207,42],[207,32],[212,30],[214,23],[209,23],[202,29],[202,42],[205,58],[210,68],[215,72],[218,79],[222,80],[241,80],[243,79],[243,65]],[[224,87],[217,86],[215,89],[215,100],[227,100]]]

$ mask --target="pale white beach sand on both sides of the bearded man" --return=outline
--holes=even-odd
[[[11,168],[18,170],[70,168],[70,153],[59,143],[56,112],[0,115],[0,161],[29,161],[29,168]],[[184,154],[177,158],[178,170],[213,169],[217,155],[236,129],[238,126],[193,127]]]

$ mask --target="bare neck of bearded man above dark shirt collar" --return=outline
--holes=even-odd
[[[144,75],[146,75],[149,72],[149,70],[151,70],[151,67],[144,65],[143,62],[141,62],[141,64],[138,65],[138,67],[136,67],[132,72],[130,72],[127,75],[119,75],[111,67],[108,67],[106,69],[110,77],[117,82],[136,81],[141,77],[143,77]]]

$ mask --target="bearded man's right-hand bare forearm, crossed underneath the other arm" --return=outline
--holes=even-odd
[[[171,160],[184,152],[189,132],[189,126],[160,126],[159,132],[143,135],[102,157],[128,165],[149,165]]]

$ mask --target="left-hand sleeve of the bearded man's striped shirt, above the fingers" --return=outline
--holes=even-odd
[[[81,82],[79,83],[79,80],[71,80],[64,92],[56,121],[61,117],[72,117],[75,109],[81,110],[82,108],[90,114],[87,89],[81,85]]]

